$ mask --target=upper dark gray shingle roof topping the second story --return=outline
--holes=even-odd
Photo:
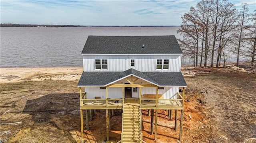
[[[182,50],[174,35],[88,36],[82,54],[182,54]]]

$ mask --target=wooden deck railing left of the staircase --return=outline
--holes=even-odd
[[[108,104],[106,104],[108,103]],[[119,98],[114,99],[81,99],[81,106],[86,107],[106,107],[108,105],[109,107],[122,107],[123,106],[123,100]]]

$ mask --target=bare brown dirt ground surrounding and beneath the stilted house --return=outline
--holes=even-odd
[[[79,90],[76,85],[82,68],[72,72],[66,68],[58,69],[58,72],[53,72],[54,69],[41,73],[34,71],[26,78],[20,78],[20,72],[11,74],[15,73],[12,68],[6,70],[1,68],[0,76],[2,143],[80,142]],[[256,73],[246,70],[234,66],[219,69],[182,67],[188,84],[182,143],[256,143]],[[25,74],[28,72],[29,69]],[[64,76],[73,79],[60,80]],[[178,128],[174,131],[175,112],[169,119],[165,110],[158,111],[156,140],[154,134],[150,134],[148,111],[142,113],[144,141],[180,142],[180,112]],[[120,140],[121,122],[121,111],[116,110],[111,119],[110,140]],[[84,131],[87,143],[104,143],[106,112],[96,110],[89,125],[90,130]]]

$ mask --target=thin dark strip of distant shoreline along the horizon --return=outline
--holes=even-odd
[[[52,24],[1,24],[0,27],[177,27],[180,25],[52,25]]]

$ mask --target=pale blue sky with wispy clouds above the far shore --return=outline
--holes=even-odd
[[[0,0],[0,23],[53,25],[181,25],[200,0]],[[256,0],[229,0],[236,9]]]

